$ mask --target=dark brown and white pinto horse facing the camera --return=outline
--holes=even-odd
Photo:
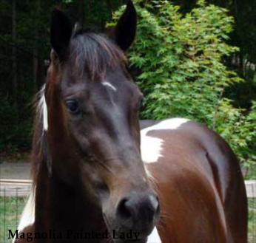
[[[225,140],[183,118],[139,122],[124,55],[136,26],[130,0],[112,38],[53,10],[33,190],[14,242],[247,242],[245,185]]]

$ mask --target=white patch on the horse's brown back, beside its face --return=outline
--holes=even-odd
[[[168,120],[163,120],[154,126],[150,126],[146,129],[141,130],[141,157],[146,163],[158,162],[161,155],[162,146],[164,140],[158,137],[150,137],[147,135],[149,131],[154,130],[174,130],[180,128],[181,125],[188,122],[189,120],[184,118],[172,118]]]

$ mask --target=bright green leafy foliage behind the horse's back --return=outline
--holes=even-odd
[[[141,116],[206,123],[228,140],[243,165],[254,164],[255,104],[245,115],[223,97],[227,87],[243,81],[223,64],[224,57],[238,52],[227,44],[233,18],[203,0],[185,16],[166,0],[148,1],[144,7],[144,1],[134,2],[138,34],[128,55],[145,95]]]

